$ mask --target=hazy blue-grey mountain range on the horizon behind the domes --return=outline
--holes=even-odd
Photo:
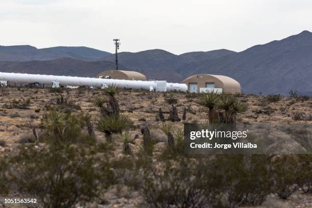
[[[95,76],[115,68],[115,56],[88,47],[0,46],[0,71]],[[181,82],[197,73],[236,79],[246,93],[312,95],[312,33],[255,45],[239,53],[220,49],[174,55],[162,49],[118,53],[119,68],[148,79]]]

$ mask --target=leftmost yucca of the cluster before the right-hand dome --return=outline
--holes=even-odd
[[[220,98],[218,92],[207,92],[202,93],[201,96],[195,101],[199,105],[208,108],[208,120],[209,123],[216,123],[218,122],[218,114],[216,111],[216,105]]]

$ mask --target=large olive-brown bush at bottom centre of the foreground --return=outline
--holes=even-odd
[[[218,179],[207,164],[179,158],[145,162],[137,169],[134,186],[149,207],[206,207],[218,202]]]

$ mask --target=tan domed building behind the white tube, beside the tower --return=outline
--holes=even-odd
[[[141,80],[146,81],[146,76],[136,71],[107,70],[96,75],[96,78],[114,80]]]

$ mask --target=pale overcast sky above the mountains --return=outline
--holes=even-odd
[[[309,0],[0,0],[0,45],[241,51],[312,32],[311,19]]]

